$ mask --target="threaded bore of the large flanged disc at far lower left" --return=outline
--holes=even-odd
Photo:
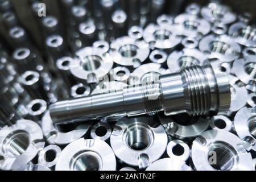
[[[27,150],[29,144],[29,134],[26,131],[17,130],[3,140],[2,151],[9,156],[18,156]]]

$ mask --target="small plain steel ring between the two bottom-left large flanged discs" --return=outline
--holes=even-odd
[[[43,164],[48,168],[52,168],[57,164],[60,154],[60,147],[50,144],[38,153],[38,163]]]

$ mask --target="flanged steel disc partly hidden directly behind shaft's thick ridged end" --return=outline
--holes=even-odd
[[[184,67],[203,65],[207,57],[199,49],[184,48],[168,56],[167,65],[171,73],[179,72]]]

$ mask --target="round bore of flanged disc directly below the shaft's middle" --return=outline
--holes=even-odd
[[[126,133],[125,140],[131,149],[141,151],[150,146],[152,131],[146,126],[136,124],[127,128]]]

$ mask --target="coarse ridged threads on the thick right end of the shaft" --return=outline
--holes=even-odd
[[[205,77],[204,69],[199,66],[187,67],[183,69],[183,76],[187,82],[185,93],[188,93],[186,103],[191,115],[205,115],[211,108],[210,87]]]

